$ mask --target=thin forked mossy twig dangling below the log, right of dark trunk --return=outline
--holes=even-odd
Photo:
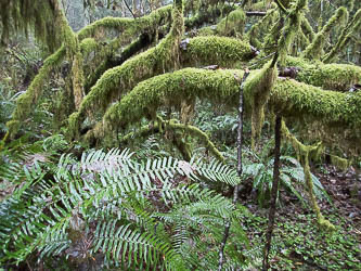
[[[334,231],[335,227],[326,220],[321,214],[320,207],[317,203],[314,191],[313,191],[313,182],[311,177],[311,170],[309,166],[309,155],[311,152],[317,152],[317,150],[321,146],[321,142],[315,145],[304,145],[300,141],[298,141],[287,129],[284,121],[282,121],[282,134],[285,137],[287,141],[292,143],[294,150],[296,151],[297,158],[304,167],[305,182],[308,188],[309,197],[311,201],[311,206],[317,215],[319,227],[325,231]]]

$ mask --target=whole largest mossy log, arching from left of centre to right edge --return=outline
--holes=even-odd
[[[254,70],[250,78],[259,70]],[[154,116],[162,106],[180,107],[184,98],[208,99],[215,103],[236,106],[238,82],[243,72],[236,69],[207,70],[185,68],[140,82],[119,103],[109,107],[104,116],[108,129],[139,121],[143,116]],[[246,108],[252,106],[253,88],[245,89]],[[324,91],[292,79],[276,80],[271,90],[269,106],[279,114],[294,119],[318,120],[338,126],[357,127],[361,122],[361,95]]]

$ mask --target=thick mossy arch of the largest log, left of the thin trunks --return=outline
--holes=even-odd
[[[180,107],[184,98],[203,96],[215,102],[224,101],[231,93],[237,92],[234,73],[186,68],[153,77],[140,82],[119,103],[109,107],[104,115],[104,125],[112,128],[136,122],[142,116],[152,116],[162,104]]]

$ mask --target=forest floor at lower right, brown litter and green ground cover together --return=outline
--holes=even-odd
[[[272,240],[273,270],[361,270],[361,176],[352,167],[339,172],[323,166],[321,171],[317,176],[332,204],[321,202],[320,207],[336,231],[322,232],[311,209],[281,192],[283,206],[276,210]],[[262,247],[268,209],[249,199],[243,204],[255,215],[243,221],[250,247]]]

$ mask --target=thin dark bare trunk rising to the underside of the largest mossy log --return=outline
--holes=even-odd
[[[270,268],[269,263],[269,254],[271,248],[272,232],[274,225],[275,217],[275,202],[279,192],[279,179],[280,179],[280,156],[281,156],[281,116],[278,115],[275,118],[275,128],[274,128],[274,165],[273,165],[273,181],[272,181],[272,191],[271,191],[271,201],[270,201],[270,211],[268,218],[268,229],[266,233],[266,244],[263,250],[263,262],[262,270],[266,271]]]

